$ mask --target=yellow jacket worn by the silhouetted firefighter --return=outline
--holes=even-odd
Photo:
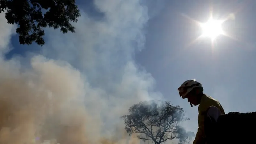
[[[206,113],[206,110],[210,106],[215,106],[220,109],[222,114],[225,114],[224,109],[222,108],[219,101],[215,100],[214,98],[203,95],[200,101],[200,104],[198,106],[198,130],[196,133],[195,140],[193,141],[193,144],[199,144],[202,141],[205,140],[205,134],[204,134],[204,115]]]

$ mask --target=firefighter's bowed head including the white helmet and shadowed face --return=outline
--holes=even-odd
[[[183,99],[187,98],[191,107],[200,103],[203,90],[202,84],[196,80],[187,80],[178,88],[180,97]]]

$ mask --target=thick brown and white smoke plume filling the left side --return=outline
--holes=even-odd
[[[139,0],[95,0],[75,34],[46,29],[40,52],[4,59],[15,26],[0,15],[0,144],[137,144],[120,116],[161,98],[133,57],[144,44],[147,7]],[[8,45],[9,44],[9,45]]]

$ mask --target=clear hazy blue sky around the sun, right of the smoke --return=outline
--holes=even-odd
[[[167,4],[158,16],[149,20],[145,49],[138,62],[156,79],[157,89],[174,104],[181,105],[196,125],[197,108],[190,108],[179,98],[176,89],[187,79],[203,83],[204,92],[220,101],[226,112],[254,111],[255,17],[254,1],[186,1]],[[205,22],[210,6],[216,19],[235,14],[223,29],[232,38],[219,36],[215,47],[202,38],[186,47],[200,35],[200,28],[182,13]],[[194,126],[193,126],[194,127]]]

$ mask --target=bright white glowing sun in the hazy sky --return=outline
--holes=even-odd
[[[223,21],[214,20],[212,17],[206,22],[201,23],[200,26],[202,28],[202,37],[210,37],[213,41],[217,36],[224,34],[222,30]]]

